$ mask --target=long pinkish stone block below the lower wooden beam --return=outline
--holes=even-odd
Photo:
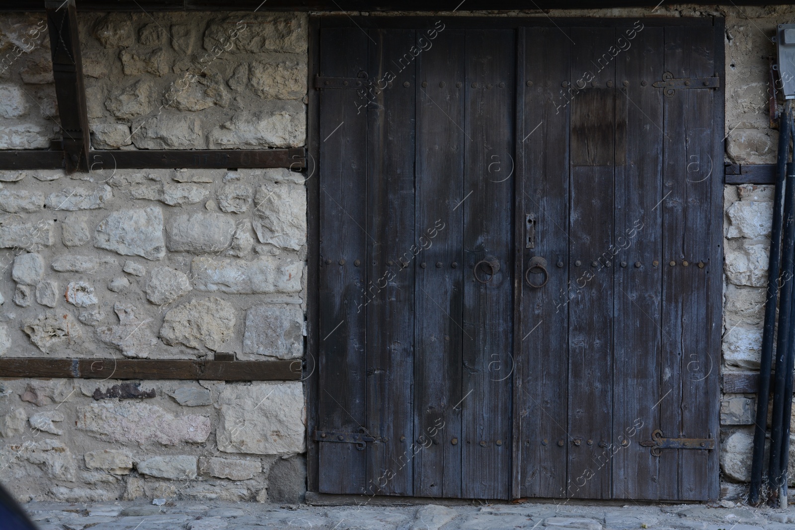
[[[198,414],[173,416],[146,403],[92,403],[77,409],[77,428],[114,442],[162,445],[203,443],[210,435],[210,419]]]

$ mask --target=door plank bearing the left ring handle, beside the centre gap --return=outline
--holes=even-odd
[[[463,497],[510,497],[515,52],[513,31],[467,30]],[[480,283],[475,265],[488,256],[499,270]]]

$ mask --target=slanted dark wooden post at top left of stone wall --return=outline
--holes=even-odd
[[[66,171],[87,172],[90,139],[75,0],[48,0],[45,8]]]

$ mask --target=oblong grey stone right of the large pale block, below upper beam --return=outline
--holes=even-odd
[[[219,253],[232,244],[235,222],[223,214],[176,215],[165,227],[172,252]]]

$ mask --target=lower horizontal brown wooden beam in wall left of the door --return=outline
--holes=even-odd
[[[298,381],[301,361],[0,358],[0,377]]]

